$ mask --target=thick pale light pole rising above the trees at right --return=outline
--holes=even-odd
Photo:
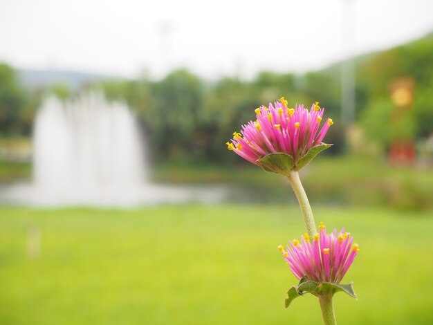
[[[341,120],[349,127],[355,120],[355,65],[353,59],[354,2],[342,0],[342,50],[344,61],[341,66]]]

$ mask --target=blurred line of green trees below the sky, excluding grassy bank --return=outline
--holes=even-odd
[[[433,125],[433,36],[387,51],[355,59],[356,122],[367,137],[384,148],[394,138],[430,136]],[[396,80],[409,80],[413,98],[398,111],[392,87]],[[89,86],[89,85],[88,85]],[[264,71],[253,80],[224,77],[202,80],[185,69],[172,71],[163,80],[98,82],[108,100],[122,100],[136,111],[147,135],[155,163],[229,163],[235,155],[225,153],[225,142],[241,124],[255,118],[254,109],[279,97],[289,106],[319,101],[335,121],[327,141],[344,148],[340,120],[340,64],[322,71],[295,75]],[[72,94],[64,85],[50,91],[63,99]],[[10,66],[0,64],[0,136],[29,136],[43,90],[30,91],[19,84]],[[401,97],[401,96],[400,96]]]

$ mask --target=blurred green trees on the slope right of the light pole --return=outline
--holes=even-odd
[[[388,145],[391,139],[427,136],[433,131],[433,35],[403,46],[370,55],[360,65],[358,84],[365,92],[365,114],[362,124],[367,136]],[[389,97],[394,80],[414,80],[412,109],[401,111],[400,118]]]

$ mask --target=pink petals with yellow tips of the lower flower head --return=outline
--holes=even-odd
[[[312,242],[305,234],[301,243],[297,239],[288,243],[287,251],[282,245],[278,249],[295,277],[319,283],[339,284],[360,251],[344,228],[326,234],[323,223],[320,223],[320,234],[315,234]]]

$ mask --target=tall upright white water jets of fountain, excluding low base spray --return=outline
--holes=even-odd
[[[48,97],[35,121],[33,150],[35,184],[47,189],[87,193],[145,179],[133,113],[95,93],[66,104]]]

